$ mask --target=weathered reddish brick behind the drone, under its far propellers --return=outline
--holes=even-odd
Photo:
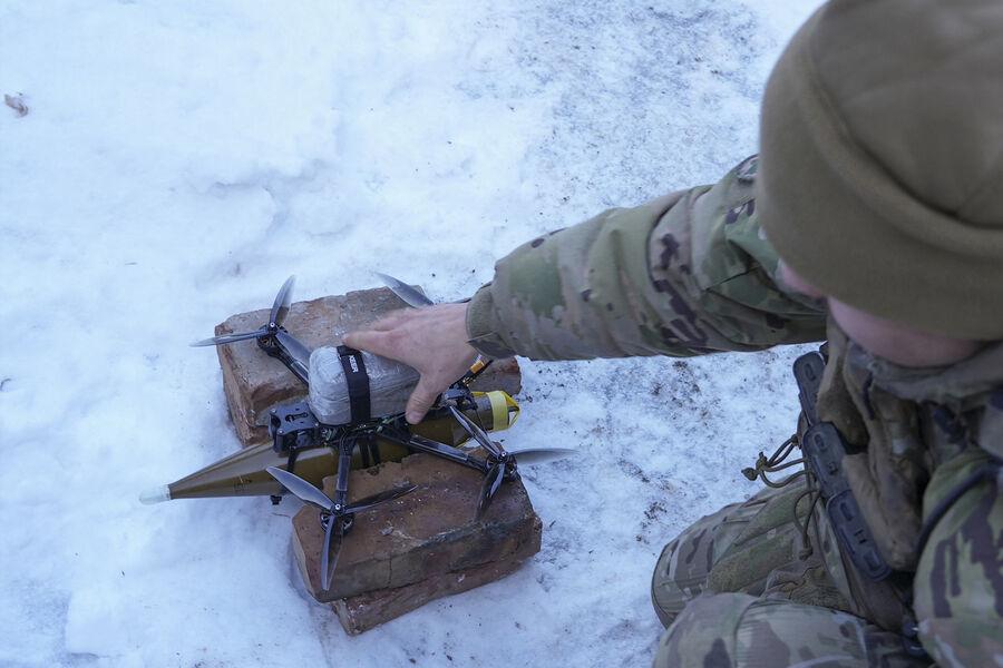
[[[420,289],[420,288],[419,288]],[[380,316],[407,305],[386,287],[350,292],[292,304],[284,326],[308,347],[339,345],[341,335],[364,327]],[[216,335],[251,332],[269,318],[269,310],[241,313],[216,325]],[[284,364],[269,357],[255,341],[217,346],[223,369],[223,389],[237,436],[244,446],[269,439],[269,411],[272,406],[298,401],[306,387]],[[519,392],[518,363],[496,361],[474,384],[475,390]]]

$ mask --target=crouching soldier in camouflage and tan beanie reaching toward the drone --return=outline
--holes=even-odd
[[[747,471],[769,485],[662,552],[655,664],[1003,665],[1001,36],[997,0],[831,0],[769,79],[758,157],[347,342],[421,372],[415,422],[477,352],[827,340],[797,434]]]

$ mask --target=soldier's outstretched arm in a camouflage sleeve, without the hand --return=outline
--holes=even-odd
[[[525,244],[467,311],[491,357],[697,355],[825,337],[820,305],[785,292],[756,213],[756,159],[714,186],[612,209]]]

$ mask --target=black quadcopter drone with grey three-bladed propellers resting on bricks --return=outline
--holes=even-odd
[[[409,306],[425,308],[434,305],[431,299],[406,283],[386,274],[377,273],[376,275]],[[282,362],[309,389],[310,356],[313,351],[283,326],[285,317],[289,315],[294,284],[295,276],[290,276],[285,281],[272,303],[269,321],[260,328],[252,332],[214,336],[197,341],[192,345],[216,346],[255,340],[257,346],[266,355]],[[486,456],[479,458],[459,448],[411,433],[402,411],[387,415],[372,415],[369,377],[361,352],[344,345],[338,346],[337,350],[348,383],[351,419],[341,424],[325,424],[318,418],[308,401],[299,401],[275,406],[271,410],[269,420],[272,449],[286,458],[286,463],[284,469],[269,466],[267,472],[288,492],[320,511],[319,519],[324,530],[324,541],[321,548],[321,586],[324,590],[329,590],[331,587],[342,541],[352,529],[354,515],[417,489],[417,485],[396,487],[349,503],[349,473],[356,448],[371,446],[374,440],[380,438],[402,445],[411,452],[429,454],[477,470],[484,475],[475,513],[478,521],[487,511],[503,482],[518,479],[518,462],[535,464],[569,456],[575,452],[575,450],[566,448],[526,448],[518,451],[506,451],[500,443],[488,436],[481,425],[465,414],[465,411],[471,409],[474,415],[478,414],[470,384],[491,364],[490,360],[478,357],[462,377],[439,395],[429,411],[429,416],[452,416],[467,435],[484,450]],[[300,453],[315,448],[330,448],[337,454],[338,468],[331,472],[332,474],[337,473],[333,498],[294,472]],[[273,497],[273,502],[279,502],[280,499],[281,497]]]

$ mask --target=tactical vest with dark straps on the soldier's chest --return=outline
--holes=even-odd
[[[853,531],[835,525],[826,499],[812,507],[815,543],[853,612],[900,630],[922,538],[972,478],[974,466],[945,464],[985,452],[992,456],[970,459],[1003,459],[1003,344],[947,367],[908,369],[869,354],[830,321],[826,348],[814,409],[841,435],[838,473],[869,529],[860,540],[873,541],[887,569],[875,580],[854,563],[847,541],[857,538],[837,537]],[[802,413],[802,450],[809,429]]]

